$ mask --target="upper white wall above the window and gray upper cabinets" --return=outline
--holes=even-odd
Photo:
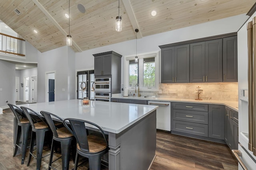
[[[160,48],[158,47],[159,45],[237,32],[247,18],[248,16],[246,16],[245,14],[241,14],[221,20],[210,21],[190,27],[143,37],[142,39],[137,40],[137,53],[145,53],[157,50],[160,51]],[[86,68],[94,68],[93,54],[103,53],[107,51],[115,51],[116,53],[119,53],[123,56],[135,54],[136,39],[86,50],[82,53],[76,53],[76,69],[80,70]],[[122,69],[124,68],[123,59],[124,57],[122,57],[121,61]],[[124,70],[122,70],[121,75],[121,84],[123,84]]]

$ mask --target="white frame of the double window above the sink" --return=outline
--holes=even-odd
[[[138,78],[139,78],[139,86],[140,91],[158,91],[159,90],[159,51],[150,51],[146,53],[139,53],[138,56]],[[129,86],[129,61],[135,59],[136,54],[126,55],[124,56],[124,88],[128,88],[128,90],[135,90],[135,87]],[[155,87],[147,88],[143,86],[143,59],[155,57]],[[142,73],[141,73],[142,72]]]

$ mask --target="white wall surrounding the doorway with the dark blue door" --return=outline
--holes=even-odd
[[[72,90],[75,84],[74,61],[72,61],[74,52],[70,50],[70,47],[65,45],[44,53],[38,52],[38,102],[46,102],[46,72],[51,71],[56,72],[55,100],[74,99],[75,92]],[[68,84],[69,80],[70,84]]]

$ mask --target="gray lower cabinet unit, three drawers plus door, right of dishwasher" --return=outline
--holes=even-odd
[[[172,102],[171,133],[225,143],[225,107]]]

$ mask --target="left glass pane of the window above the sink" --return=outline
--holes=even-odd
[[[129,61],[129,86],[134,87],[138,83],[138,63]]]

